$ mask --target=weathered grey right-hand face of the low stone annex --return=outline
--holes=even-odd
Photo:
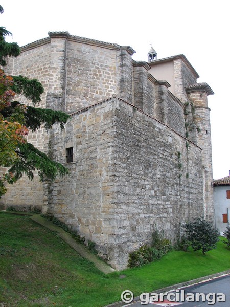
[[[165,230],[176,239],[180,223],[203,212],[201,149],[165,125],[116,103],[116,206],[110,236],[114,267],[125,268],[128,253]],[[145,134],[143,135],[143,131]]]

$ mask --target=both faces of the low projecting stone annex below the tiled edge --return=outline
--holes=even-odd
[[[155,227],[176,239],[180,223],[202,214],[201,150],[124,101],[79,112],[51,137],[53,158],[65,164],[72,144],[74,162],[70,176],[47,184],[48,212],[96,242],[114,268]]]

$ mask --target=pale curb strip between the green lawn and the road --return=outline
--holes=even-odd
[[[204,281],[204,280],[210,280],[210,279],[213,279],[215,277],[220,277],[222,275],[226,275],[226,274],[229,274],[229,273],[230,273],[230,270],[220,272],[220,273],[215,273],[215,274],[212,274],[212,275],[192,279],[192,280],[189,280],[189,281],[180,282],[180,283],[177,283],[177,284],[174,284],[172,286],[168,286],[168,287],[165,287],[165,288],[162,288],[162,289],[153,290],[150,293],[168,292],[168,291],[173,290],[173,289],[191,286],[192,284],[196,284],[196,283],[199,283],[199,282]],[[138,301],[140,301],[140,296],[134,297],[134,299],[131,303],[126,304],[126,303],[120,301],[120,302],[116,302],[116,303],[113,303],[113,304],[110,304],[110,305],[106,305],[105,307],[123,307],[123,306],[131,305],[132,303],[135,303],[135,302],[138,302]]]

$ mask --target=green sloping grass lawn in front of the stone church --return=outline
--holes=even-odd
[[[230,249],[172,251],[142,268],[104,275],[55,233],[28,216],[0,213],[0,305],[102,307],[175,283],[230,269]],[[125,274],[126,278],[119,278]]]

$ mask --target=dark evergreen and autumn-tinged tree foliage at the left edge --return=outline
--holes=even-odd
[[[3,13],[0,6],[0,13]],[[20,48],[17,43],[8,43],[6,36],[12,35],[4,27],[0,27],[0,65],[5,67],[8,57],[17,57]],[[47,177],[54,180],[59,174],[64,176],[67,169],[52,161],[45,153],[27,142],[29,130],[35,131],[44,125],[50,129],[55,123],[63,129],[69,116],[64,112],[35,107],[41,101],[42,84],[24,76],[10,76],[0,69],[0,166],[8,168],[1,172],[0,196],[6,193],[5,183],[13,184],[22,174],[33,179],[33,172],[38,170],[40,180]],[[33,103],[15,101],[20,95]]]

